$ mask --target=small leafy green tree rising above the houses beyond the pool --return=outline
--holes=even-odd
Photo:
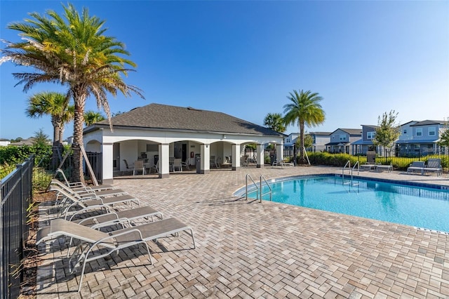
[[[380,145],[384,148],[391,148],[398,139],[401,132],[396,124],[398,113],[391,110],[389,113],[384,112],[382,117],[377,118],[377,128],[373,139],[374,145]]]

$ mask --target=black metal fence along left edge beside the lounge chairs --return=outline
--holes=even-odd
[[[28,238],[27,208],[32,202],[34,157],[0,181],[0,298],[18,298],[21,261]]]

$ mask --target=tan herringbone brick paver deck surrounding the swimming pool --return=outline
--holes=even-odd
[[[67,249],[40,246],[38,298],[448,298],[448,235],[232,194],[258,180],[340,168],[213,170],[118,178],[114,185],[192,226],[69,274]],[[448,175],[361,172],[449,185]],[[45,217],[41,217],[45,220]],[[62,246],[62,248],[65,248]]]

